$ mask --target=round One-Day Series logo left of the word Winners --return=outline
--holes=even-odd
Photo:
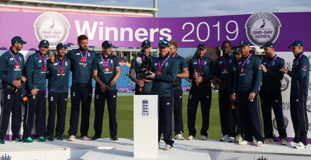
[[[38,42],[48,40],[50,47],[55,47],[58,43],[67,40],[70,24],[64,15],[58,12],[46,12],[37,17],[34,29]]]

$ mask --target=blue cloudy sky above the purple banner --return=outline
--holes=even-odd
[[[49,0],[82,4],[154,7],[154,0]],[[255,12],[311,12],[311,0],[158,0],[158,17],[244,15]],[[180,48],[186,57],[196,48]]]

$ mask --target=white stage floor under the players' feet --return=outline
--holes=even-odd
[[[96,141],[76,139],[74,142],[67,139],[33,143],[5,141],[4,145],[0,145],[0,158],[10,156],[11,160],[136,160],[133,144],[132,138],[119,138],[118,141],[108,138]],[[173,150],[165,151],[164,147],[165,143],[161,141],[158,160],[311,160],[311,146],[307,149],[294,149],[279,143],[257,147],[216,140],[175,140]]]

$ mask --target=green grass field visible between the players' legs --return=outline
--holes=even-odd
[[[188,93],[188,92],[184,92]],[[184,137],[188,136],[188,128],[187,128],[187,102],[188,95],[183,96],[183,123],[184,123]],[[48,106],[48,104],[47,104]],[[67,113],[66,113],[66,126],[63,137],[68,138],[68,130],[69,130],[69,116],[70,116],[70,98],[68,99],[67,104]],[[48,112],[48,109],[47,109]],[[48,116],[48,113],[47,113]],[[80,137],[80,121],[81,121],[81,110],[80,110],[80,119],[79,119],[79,127],[77,138]],[[131,138],[133,137],[133,96],[118,96],[117,100],[117,122],[118,122],[118,137],[120,138]],[[56,124],[56,123],[55,123]],[[94,135],[94,99],[91,102],[91,114],[90,114],[90,124],[88,130],[88,136],[92,137]],[[202,116],[201,116],[201,107],[200,104],[198,106],[196,121],[195,121],[195,129],[197,131],[197,136],[200,134],[202,126]],[[214,92],[212,95],[212,104],[210,109],[210,117],[209,117],[209,129],[207,131],[208,139],[216,139],[218,140],[223,135],[221,133],[220,128],[220,117],[219,117],[219,107],[218,107],[218,93]],[[104,110],[104,119],[103,119],[103,133],[102,137],[108,138],[109,136],[109,124],[108,124],[108,110],[107,105],[105,104]]]

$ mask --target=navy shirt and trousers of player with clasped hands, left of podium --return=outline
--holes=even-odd
[[[105,71],[103,67],[102,56],[98,55],[92,64],[92,70],[98,71],[97,76],[106,85],[109,86],[112,79],[116,76],[116,68],[120,68],[119,59],[117,56],[108,56],[104,61],[109,59],[108,70]],[[117,87],[111,86],[105,92],[102,92],[101,86],[96,83],[95,86],[95,118],[94,118],[94,137],[101,137],[103,130],[103,118],[105,101],[107,100],[107,109],[109,115],[109,131],[111,137],[117,137],[118,123],[117,123]]]

